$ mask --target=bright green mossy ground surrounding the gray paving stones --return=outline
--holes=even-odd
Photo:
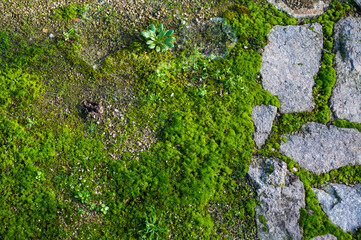
[[[1,238],[138,239],[150,236],[146,216],[156,214],[149,230],[161,239],[256,239],[257,201],[246,177],[256,152],[250,115],[254,105],[279,107],[259,83],[261,52],[272,25],[298,22],[263,1],[30,5],[0,3]],[[315,20],[327,50],[316,110],[282,115],[258,151],[298,167],[307,191],[305,239],[359,237],[327,220],[310,187],[361,182],[361,169],[316,176],[277,151],[281,134],[329,121],[332,26],[344,14],[350,8],[334,3]],[[139,34],[150,23],[177,32],[184,22],[214,16],[226,18],[238,37],[223,59],[193,47],[156,53]],[[79,37],[65,41],[63,28],[80,20]],[[102,101],[104,113],[86,117],[84,99]],[[86,191],[86,200],[75,197]]]

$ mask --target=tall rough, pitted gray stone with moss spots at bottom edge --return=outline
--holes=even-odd
[[[277,158],[253,157],[248,174],[261,202],[256,206],[258,238],[301,239],[303,233],[298,219],[300,208],[305,206],[305,190],[300,179]],[[266,224],[260,221],[261,215],[267,220]]]

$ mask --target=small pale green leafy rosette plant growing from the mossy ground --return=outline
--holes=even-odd
[[[173,30],[163,30],[163,24],[160,24],[158,29],[152,24],[149,31],[142,31],[141,34],[146,39],[149,39],[147,41],[148,47],[159,52],[160,50],[167,51],[169,47],[174,47],[174,37],[171,36],[173,32]]]

